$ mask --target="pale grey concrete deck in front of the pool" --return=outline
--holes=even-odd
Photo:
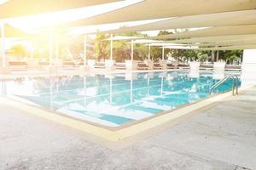
[[[256,169],[256,87],[108,143],[1,105],[0,169]]]

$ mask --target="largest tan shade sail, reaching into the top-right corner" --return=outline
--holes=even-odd
[[[91,19],[80,20],[76,26],[214,14],[254,8],[256,1],[252,0],[147,0]]]

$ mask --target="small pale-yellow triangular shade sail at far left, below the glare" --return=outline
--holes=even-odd
[[[0,29],[0,35],[2,29]],[[24,31],[20,31],[19,29],[10,26],[9,24],[4,25],[4,33],[5,37],[30,37],[30,35]]]

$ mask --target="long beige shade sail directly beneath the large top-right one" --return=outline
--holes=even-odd
[[[108,31],[111,33],[131,31],[154,31],[176,28],[195,28],[209,26],[256,25],[256,10],[244,10],[217,14],[198,14],[161,20],[142,26],[131,26]]]

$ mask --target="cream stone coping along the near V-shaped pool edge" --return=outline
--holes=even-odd
[[[239,88],[239,91],[241,92],[241,91],[247,90],[248,88],[253,88],[254,86],[255,84],[250,84],[250,85],[247,85],[246,87]],[[224,94],[213,95],[212,97],[209,97],[207,99],[202,99],[190,105],[184,105],[183,107],[175,111],[169,111],[169,112],[166,112],[165,114],[161,114],[160,116],[155,116],[143,122],[138,122],[129,127],[124,127],[115,131],[106,129],[104,127],[97,127],[90,123],[81,122],[67,116],[57,115],[50,111],[44,111],[41,108],[38,108],[32,105],[27,105],[25,103],[20,103],[13,99],[0,97],[0,103],[18,108],[21,111],[25,111],[28,114],[42,117],[51,122],[57,122],[67,127],[73,127],[84,133],[89,133],[96,137],[107,139],[108,141],[111,141],[111,142],[119,142],[123,139],[127,139],[132,136],[135,136],[138,133],[143,133],[151,128],[158,127],[161,124],[164,124],[166,122],[170,122],[179,117],[188,115],[193,111],[204,108],[207,105],[212,105],[213,103],[218,102],[219,100],[225,99],[230,96],[232,96],[230,91]]]

